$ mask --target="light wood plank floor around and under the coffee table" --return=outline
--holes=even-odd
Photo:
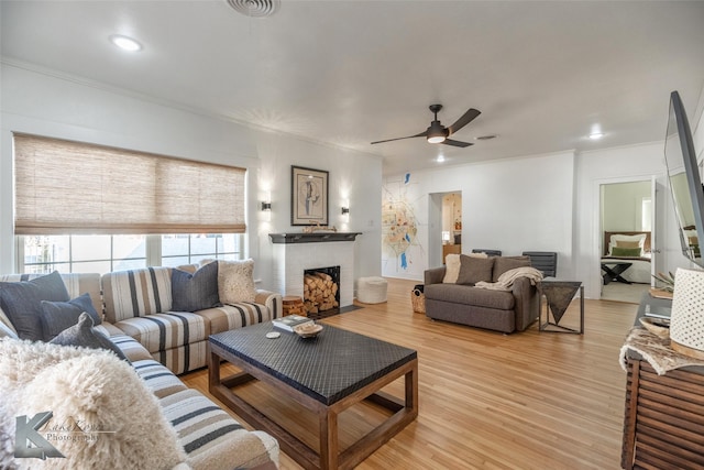
[[[502,335],[414,314],[410,281],[388,280],[388,302],[322,324],[414,348],[420,413],[359,469],[618,469],[626,374],[620,346],[637,305],[585,300],[585,334],[532,325]],[[572,320],[573,302],[565,315]],[[576,321],[576,320],[574,320]],[[207,393],[207,372],[184,378]],[[274,390],[244,391],[315,446],[317,424]],[[403,396],[400,381],[386,389]],[[341,447],[381,419],[371,405],[340,417]],[[235,416],[237,418],[237,416]],[[280,456],[282,469],[300,469]]]

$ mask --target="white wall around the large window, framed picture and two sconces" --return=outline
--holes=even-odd
[[[256,261],[262,287],[272,278],[268,233],[301,230],[290,226],[290,165],[329,171],[330,225],[363,232],[355,243],[355,278],[380,274],[377,156],[254,130],[44,70],[2,64],[1,74],[0,272],[15,271],[12,132],[25,132],[246,167],[249,255]],[[265,220],[258,206],[270,194],[273,210]],[[351,207],[349,221],[340,215],[343,198]]]

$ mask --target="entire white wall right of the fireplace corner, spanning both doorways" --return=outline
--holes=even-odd
[[[656,230],[662,252],[661,267],[691,266],[680,254],[663,143],[656,142],[386,177],[385,207],[394,204],[407,207],[406,211],[415,218],[417,234],[407,248],[405,267],[399,256],[383,249],[383,275],[422,280],[429,267],[427,196],[451,188],[462,192],[462,252],[469,253],[473,248],[498,249],[507,255],[557,251],[558,277],[582,281],[585,297],[600,298],[600,187],[652,177],[658,184]],[[385,234],[383,230],[383,239]]]

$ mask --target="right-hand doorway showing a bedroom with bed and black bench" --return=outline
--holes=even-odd
[[[654,207],[654,179],[600,185],[597,237],[603,300],[638,304],[650,288],[657,252]]]

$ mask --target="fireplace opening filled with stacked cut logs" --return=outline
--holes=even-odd
[[[340,309],[340,266],[304,270],[304,308],[310,317]]]

